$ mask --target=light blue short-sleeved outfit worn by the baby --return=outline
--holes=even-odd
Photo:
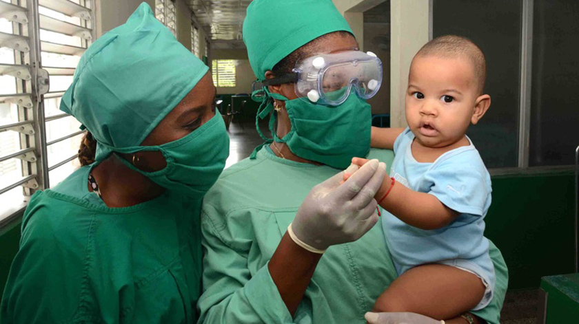
[[[396,186],[434,195],[460,215],[444,228],[421,230],[385,211],[382,224],[398,274],[420,264],[465,259],[482,268],[484,273],[477,274],[494,277],[489,241],[483,237],[483,219],[491,205],[491,177],[478,151],[468,139],[469,146],[448,151],[433,163],[421,163],[412,156],[413,140],[407,128],[394,142],[396,158],[389,174],[398,182]]]

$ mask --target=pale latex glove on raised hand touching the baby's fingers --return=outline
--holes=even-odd
[[[348,168],[353,174],[343,184],[341,172],[309,191],[289,228],[297,244],[323,252],[334,244],[356,241],[378,222],[374,195],[386,164],[372,160],[355,169]]]

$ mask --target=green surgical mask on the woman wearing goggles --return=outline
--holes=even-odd
[[[278,138],[274,130],[277,120],[277,114],[274,111],[270,119],[270,131],[274,140],[287,144],[287,147],[300,158],[327,164],[336,169],[346,169],[352,162],[352,158],[365,157],[368,154],[372,109],[356,94],[350,94],[341,105],[325,106],[301,99],[288,100],[284,96],[271,94],[269,91],[266,93],[267,96],[285,101],[285,109],[292,122],[290,133],[283,138]],[[265,105],[264,102],[256,117],[258,133],[265,140],[268,139],[261,133],[258,121],[265,118],[271,110],[272,103],[267,102]]]

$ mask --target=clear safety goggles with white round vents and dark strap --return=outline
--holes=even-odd
[[[372,52],[318,54],[298,61],[291,73],[264,80],[261,85],[283,83],[294,83],[298,98],[337,106],[352,90],[360,98],[372,98],[382,85],[382,62]]]

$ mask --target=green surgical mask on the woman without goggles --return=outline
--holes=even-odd
[[[229,155],[229,136],[221,114],[215,114],[199,129],[174,142],[125,148],[108,147],[99,142],[97,148],[97,160],[102,160],[112,152],[132,154],[160,151],[167,161],[167,166],[161,171],[145,172],[124,158],[121,161],[163,188],[198,197],[207,193],[223,171]]]

